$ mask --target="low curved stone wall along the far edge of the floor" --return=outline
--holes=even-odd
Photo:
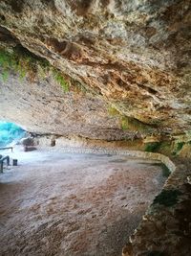
[[[55,146],[60,147],[62,151],[66,152],[129,155],[133,157],[159,160],[169,169],[171,173],[176,169],[175,164],[170,160],[169,157],[157,152],[143,151],[144,144],[139,140],[137,142],[138,148],[140,148],[142,151],[132,151],[129,143],[124,141],[106,142],[101,140],[87,140],[77,136],[68,138],[61,136],[55,138],[54,136],[48,135],[35,138],[34,140],[35,144],[41,147],[51,146],[52,141],[55,140]],[[134,148],[137,148],[136,143]]]

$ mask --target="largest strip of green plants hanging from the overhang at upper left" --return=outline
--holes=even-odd
[[[35,78],[43,80],[52,74],[54,81],[62,87],[63,91],[69,91],[69,82],[58,69],[45,58],[39,58],[21,46],[14,47],[11,51],[0,49],[0,66],[2,81],[7,81],[11,72],[18,74],[20,80],[28,77],[30,81],[34,81]]]

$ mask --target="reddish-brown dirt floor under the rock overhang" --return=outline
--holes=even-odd
[[[119,256],[165,178],[127,156],[17,152],[0,175],[0,255]]]

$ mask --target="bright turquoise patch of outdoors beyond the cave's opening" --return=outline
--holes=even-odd
[[[0,121],[0,147],[5,147],[12,142],[17,142],[25,135],[26,131],[13,123]]]

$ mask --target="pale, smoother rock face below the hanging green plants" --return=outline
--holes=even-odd
[[[110,116],[108,105],[90,93],[63,92],[52,78],[29,82],[11,75],[1,84],[0,115],[36,133],[80,135],[104,140],[129,136],[120,117]]]

